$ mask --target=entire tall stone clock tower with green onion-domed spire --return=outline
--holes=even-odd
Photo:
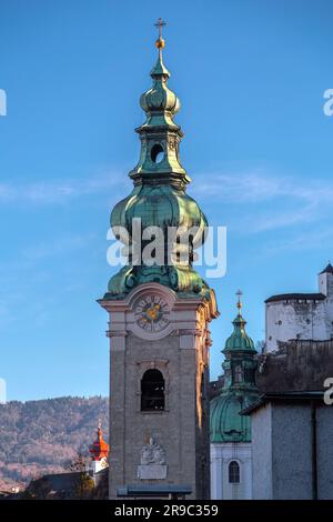
[[[153,83],[140,99],[147,119],[135,129],[133,190],[111,212],[128,264],[99,300],[110,319],[111,499],[128,485],[188,486],[191,498],[210,498],[209,323],[218,309],[192,267],[208,222],[186,194],[162,24]]]

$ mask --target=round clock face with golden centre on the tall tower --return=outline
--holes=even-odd
[[[159,295],[145,295],[135,309],[135,322],[147,332],[160,332],[169,324],[169,305]]]

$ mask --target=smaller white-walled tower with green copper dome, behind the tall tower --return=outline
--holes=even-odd
[[[240,293],[240,292],[239,292]],[[211,401],[211,498],[252,499],[251,419],[240,411],[259,396],[255,384],[256,351],[245,332],[241,313],[233,321],[233,333],[223,354],[224,385]]]

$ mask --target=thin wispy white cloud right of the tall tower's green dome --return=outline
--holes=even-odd
[[[204,181],[202,178],[196,177],[192,193],[240,208],[238,222],[233,220],[234,229],[239,228],[238,223],[243,227],[240,217],[246,204],[246,231],[250,233],[309,223],[332,213],[333,184],[327,181],[310,182],[262,171],[205,174]]]

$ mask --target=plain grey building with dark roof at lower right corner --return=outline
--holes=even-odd
[[[266,393],[252,421],[253,499],[333,498],[333,406],[322,391]]]

